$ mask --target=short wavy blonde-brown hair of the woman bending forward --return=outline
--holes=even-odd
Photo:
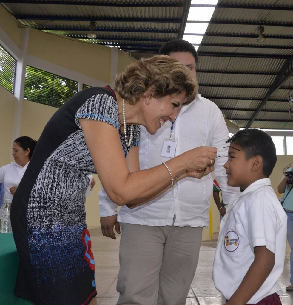
[[[154,98],[185,92],[184,105],[191,103],[198,92],[198,83],[190,70],[167,55],[142,58],[130,64],[115,79],[115,90],[131,105],[152,88]]]

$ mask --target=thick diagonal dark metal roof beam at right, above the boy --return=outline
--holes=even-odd
[[[255,113],[252,115],[251,119],[246,124],[245,128],[248,128],[248,127],[251,126],[253,121],[258,116],[258,113],[260,113],[261,109],[265,106],[266,101],[269,99],[269,97],[281,86],[281,84],[284,83],[284,81],[286,81],[288,79],[288,77],[291,76],[291,74],[293,73],[292,62],[293,62],[293,55],[288,57],[285,60],[283,66],[280,69],[279,74],[275,77],[275,80],[273,81],[273,84],[271,85],[271,87],[267,91],[265,97],[263,98],[262,102],[258,106],[258,110],[256,110]]]

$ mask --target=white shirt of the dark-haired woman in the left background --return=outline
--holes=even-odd
[[[16,162],[11,162],[0,168],[0,182],[4,185],[4,199],[12,200],[13,196],[10,194],[9,188],[19,185],[20,180],[27,169],[28,163],[29,162],[22,167]]]

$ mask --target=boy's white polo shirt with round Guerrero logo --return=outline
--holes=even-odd
[[[270,179],[255,181],[227,207],[222,219],[214,257],[215,287],[229,300],[254,260],[254,247],[266,246],[275,253],[275,265],[247,303],[258,303],[275,292],[282,295],[278,279],[284,267],[286,234],[287,215]]]

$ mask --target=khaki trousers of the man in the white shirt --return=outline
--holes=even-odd
[[[120,225],[117,305],[185,305],[203,228]]]

